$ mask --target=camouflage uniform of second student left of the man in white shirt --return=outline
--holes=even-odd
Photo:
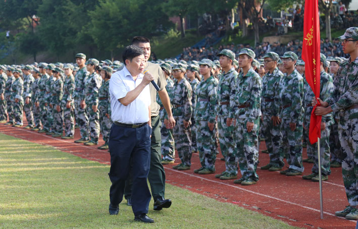
[[[91,141],[94,143],[98,143],[99,137],[99,110],[97,109],[97,111],[94,112],[92,105],[98,106],[98,90],[100,86],[101,78],[96,72],[93,72],[87,79],[85,79],[84,88],[86,93],[86,113],[88,115],[88,127]]]

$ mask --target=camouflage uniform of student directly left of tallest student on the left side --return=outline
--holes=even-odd
[[[66,66],[65,66],[66,68]],[[63,97],[61,100],[61,106],[64,110],[64,127],[65,136],[73,137],[75,134],[75,107],[73,104],[73,92],[75,90],[75,78],[73,75],[69,75],[65,79],[63,86]],[[66,104],[70,101],[70,108],[67,108]]]

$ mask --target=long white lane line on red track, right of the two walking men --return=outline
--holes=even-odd
[[[266,197],[266,198],[270,198],[270,199],[274,199],[274,200],[277,200],[277,201],[281,201],[281,202],[284,202],[284,203],[296,205],[296,206],[299,206],[299,207],[302,207],[302,208],[305,208],[305,209],[309,209],[309,210],[312,210],[312,211],[321,212],[320,210],[315,209],[315,208],[312,208],[312,207],[307,207],[307,206],[304,206],[304,205],[301,205],[301,204],[293,203],[293,202],[291,202],[291,201],[282,200],[282,199],[279,199],[279,198],[276,198],[276,197],[273,197],[273,196],[261,194],[261,193],[254,192],[254,191],[251,191],[251,190],[246,190],[246,189],[240,188],[240,187],[238,187],[238,186],[229,185],[229,184],[226,184],[226,183],[223,183],[223,182],[219,182],[219,181],[209,180],[209,179],[207,179],[207,178],[202,178],[202,177],[199,177],[199,176],[196,176],[196,175],[193,175],[193,174],[184,173],[184,172],[182,172],[182,171],[179,171],[179,170],[176,170],[176,169],[172,169],[172,168],[167,168],[167,167],[166,167],[166,169],[169,169],[169,170],[171,170],[171,171],[175,171],[176,173],[184,174],[184,175],[187,175],[187,176],[190,176],[190,177],[198,178],[198,179],[200,179],[200,180],[209,181],[209,182],[217,183],[217,184],[220,184],[220,185],[226,185],[226,186],[229,186],[229,187],[232,187],[232,188],[235,188],[235,189],[239,189],[239,190],[241,190],[241,191],[249,192],[249,193],[252,193],[252,194],[255,194],[255,195],[259,195],[259,196],[263,196],[263,197]],[[330,216],[336,216],[335,214],[332,214],[332,213],[326,212],[326,211],[324,211],[323,213],[325,213],[325,214],[327,214],[327,215],[330,215]],[[337,216],[336,216],[336,217],[337,217]],[[343,217],[339,217],[339,218],[343,218]]]

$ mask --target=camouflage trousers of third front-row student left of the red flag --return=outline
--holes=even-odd
[[[259,180],[256,168],[259,164],[260,118],[253,121],[251,132],[247,132],[247,119],[236,119],[235,142],[240,173],[243,178]]]

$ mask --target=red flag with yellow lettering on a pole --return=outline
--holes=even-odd
[[[303,47],[302,60],[305,65],[306,80],[311,86],[316,98],[320,97],[320,18],[318,14],[318,0],[306,0],[304,3],[304,20],[303,20]],[[318,102],[318,101],[317,101]],[[317,105],[320,105],[318,102]],[[314,111],[317,107],[313,107],[310,121],[310,142],[317,142],[317,138],[321,137],[321,121],[322,116],[316,116]]]

